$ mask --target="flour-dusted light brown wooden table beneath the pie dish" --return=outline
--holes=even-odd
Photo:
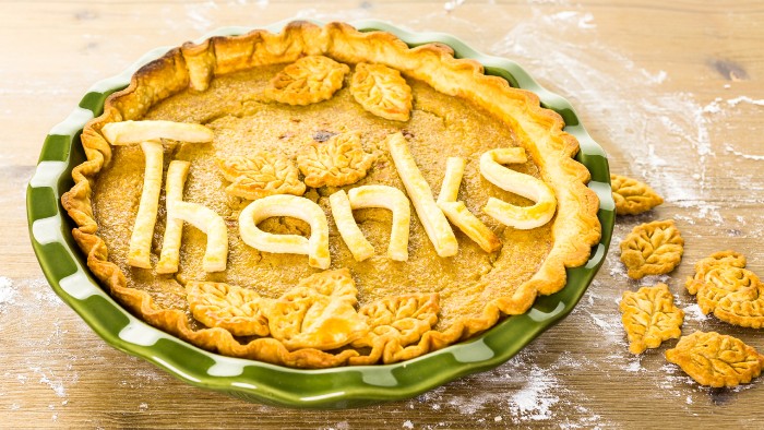
[[[683,279],[728,248],[764,275],[764,3],[761,1],[95,2],[0,1],[0,427],[764,427],[764,381],[699,386],[662,353],[628,353],[617,301],[667,282],[695,330],[760,331],[703,316]],[[571,99],[612,171],[666,203],[621,217],[614,246],[576,310],[494,371],[419,397],[341,411],[248,404],[187,386],[97,337],[55,296],[27,236],[24,193],[51,126],[94,82],[151,48],[224,25],[287,17],[377,17],[459,36],[517,60]],[[670,276],[626,278],[619,241],[676,219],[687,249]]]

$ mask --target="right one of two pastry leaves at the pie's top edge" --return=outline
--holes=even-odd
[[[356,64],[350,94],[363,109],[378,117],[408,121],[411,115],[411,87],[401,72],[384,64]]]

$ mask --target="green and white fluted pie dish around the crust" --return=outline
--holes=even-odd
[[[566,286],[557,294],[538,297],[528,312],[508,318],[468,342],[394,365],[291,369],[208,353],[150,326],[117,303],[89,274],[85,256],[72,239],[74,225],[61,208],[60,195],[73,184],[72,168],[85,160],[80,144],[85,123],[102,114],[106,97],[124,88],[141,65],[170,49],[162,47],[147,52],[119,75],[93,85],[72,114],[51,129],[27,189],[32,243],[43,272],[53,290],[107,343],[194,386],[272,405],[344,408],[408,398],[465,374],[492,369],[573,310],[605,260],[616,216],[605,152],[588,135],[573,107],[564,98],[541,87],[518,64],[479,53],[453,36],[410,33],[378,21],[350,24],[362,32],[390,32],[409,46],[433,41],[447,45],[456,57],[479,61],[487,74],[501,76],[512,86],[536,93],[544,107],[560,114],[565,121],[564,131],[580,142],[576,159],[592,174],[588,187],[600,201],[601,238],[592,249],[588,262],[568,270]],[[265,28],[276,33],[285,25],[286,22],[282,22]],[[251,29],[225,27],[202,39],[239,35]]]

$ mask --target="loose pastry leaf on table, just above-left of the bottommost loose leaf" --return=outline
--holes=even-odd
[[[623,291],[620,309],[632,354],[657,348],[661,342],[682,335],[684,312],[673,304],[666,284],[642,287],[636,292]]]

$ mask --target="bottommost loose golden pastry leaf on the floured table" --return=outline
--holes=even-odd
[[[669,362],[701,385],[723,387],[751,382],[762,372],[764,356],[742,341],[716,332],[695,332],[666,351]]]

